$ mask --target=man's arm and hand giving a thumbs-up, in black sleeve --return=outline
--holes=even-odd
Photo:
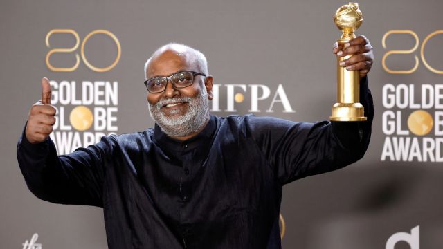
[[[39,199],[54,203],[102,206],[104,162],[111,154],[111,138],[57,156],[49,138],[54,123],[51,86],[44,78],[42,100],[31,107],[17,145],[17,160],[29,190]]]

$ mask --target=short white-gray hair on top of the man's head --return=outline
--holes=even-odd
[[[147,66],[150,64],[151,59],[155,57],[156,55],[159,55],[163,53],[165,50],[174,50],[179,52],[180,54],[186,55],[187,59],[190,59],[191,62],[197,62],[197,66],[200,69],[200,73],[204,73],[205,75],[208,75],[208,61],[206,60],[206,57],[203,53],[201,53],[199,50],[195,48],[191,48],[190,46],[186,46],[184,44],[178,44],[171,42],[169,44],[163,45],[157,50],[155,50],[154,53],[152,53],[151,57],[147,59],[145,62],[145,80],[147,80]]]

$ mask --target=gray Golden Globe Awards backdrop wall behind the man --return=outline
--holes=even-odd
[[[1,248],[107,248],[100,208],[29,192],[15,149],[48,77],[59,154],[154,125],[143,66],[163,44],[201,50],[213,114],[327,120],[336,102],[333,22],[347,2],[0,3]],[[374,66],[365,157],[284,187],[283,248],[443,247],[443,2],[359,1]],[[202,235],[203,236],[203,235]]]

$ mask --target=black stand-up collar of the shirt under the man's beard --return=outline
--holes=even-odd
[[[195,149],[200,145],[206,144],[212,138],[217,122],[215,116],[210,115],[209,122],[206,127],[197,134],[197,136],[185,141],[176,140],[166,135],[158,124],[154,126],[154,140],[168,150],[183,151],[183,149]]]

